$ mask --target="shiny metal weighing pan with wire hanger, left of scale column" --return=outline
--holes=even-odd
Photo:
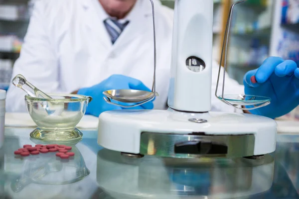
[[[155,74],[156,74],[156,35],[155,35],[155,22],[154,22],[154,4],[153,1],[150,0],[152,7],[152,23],[153,23],[153,45],[154,45],[154,64],[153,64],[153,82],[151,92],[148,91],[140,91],[140,90],[130,90],[130,89],[120,89],[120,90],[110,90],[105,91],[103,94],[106,96],[104,100],[107,103],[122,106],[122,107],[135,107],[147,103],[151,100],[154,100],[158,93],[155,92]],[[134,105],[121,105],[118,103],[114,103],[111,100],[116,100],[124,103],[137,103]]]

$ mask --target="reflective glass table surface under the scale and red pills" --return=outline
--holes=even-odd
[[[299,199],[299,135],[278,135],[276,152],[260,160],[132,159],[100,147],[92,130],[72,159],[15,156],[34,144],[32,130],[5,129],[0,199]]]

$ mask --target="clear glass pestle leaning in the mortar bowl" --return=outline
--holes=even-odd
[[[20,88],[21,90],[26,92],[29,96],[33,98],[52,99],[50,96],[48,96],[47,94],[33,86],[31,83],[29,83],[22,75],[15,76],[12,80],[12,84],[15,87]],[[60,115],[64,110],[64,103],[59,103],[58,101],[41,101],[40,104],[49,115]]]

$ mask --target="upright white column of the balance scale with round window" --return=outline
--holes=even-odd
[[[175,0],[169,107],[211,109],[213,0]]]

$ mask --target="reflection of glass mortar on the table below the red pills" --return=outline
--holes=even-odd
[[[73,147],[75,156],[62,160],[53,153],[29,156],[24,160],[23,172],[11,182],[11,190],[20,192],[27,185],[68,185],[76,183],[90,174],[78,149]]]

